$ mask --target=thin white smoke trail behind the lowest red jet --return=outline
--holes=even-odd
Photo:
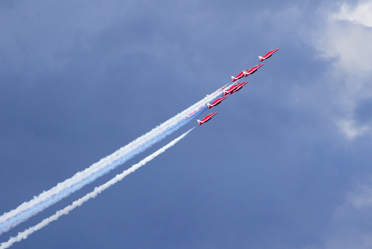
[[[195,127],[194,127],[195,128]],[[183,133],[178,138],[174,139],[167,145],[163,146],[162,148],[158,149],[154,153],[152,153],[150,156],[147,156],[146,158],[142,159],[138,164],[134,164],[129,169],[126,169],[121,174],[116,175],[116,177],[112,178],[110,181],[106,182],[105,184],[100,185],[99,187],[94,188],[94,190],[80,199],[74,201],[71,205],[57,211],[54,215],[48,217],[47,219],[42,220],[39,224],[36,224],[35,226],[29,227],[23,232],[18,233],[15,237],[10,237],[10,239],[7,242],[3,242],[0,244],[0,249],[9,248],[13,245],[15,242],[19,242],[22,239],[26,239],[31,233],[36,232],[39,229],[42,229],[43,227],[47,226],[49,223],[51,223],[54,220],[57,220],[59,217],[61,217],[64,214],[68,214],[71,210],[74,208],[81,206],[84,202],[89,200],[90,198],[95,198],[98,194],[100,194],[103,190],[106,190],[111,185],[115,184],[118,181],[121,181],[126,175],[131,174],[136,169],[140,168],[141,166],[145,165],[147,162],[150,162],[152,159],[166,151],[166,149],[170,148],[171,146],[175,145],[179,140],[183,139],[190,131],[192,131],[194,128],[188,130],[187,132]]]

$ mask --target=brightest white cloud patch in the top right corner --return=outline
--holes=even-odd
[[[372,27],[372,1],[360,2],[354,9],[349,4],[343,3],[340,12],[335,14],[334,18]]]

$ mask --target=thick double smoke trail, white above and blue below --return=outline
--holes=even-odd
[[[229,83],[227,85],[230,87],[232,84]],[[118,149],[111,155],[102,158],[99,162],[94,163],[89,168],[77,172],[73,177],[65,180],[62,183],[58,183],[57,186],[48,191],[44,191],[39,196],[35,196],[31,201],[25,202],[16,209],[4,213],[2,216],[0,216],[0,235],[4,232],[7,232],[12,227],[15,227],[17,224],[41,212],[52,204],[60,201],[62,198],[74,193],[84,185],[96,180],[98,177],[107,174],[112,169],[150,148],[167,135],[170,135],[181,126],[190,122],[193,117],[205,111],[207,106],[189,117],[185,118],[185,116],[192,111],[198,110],[201,106],[204,106],[206,102],[210,102],[215,98],[220,97],[220,89],[193,104],[161,125],[155,127],[150,132],[140,136],[131,143],[128,143],[128,145]]]

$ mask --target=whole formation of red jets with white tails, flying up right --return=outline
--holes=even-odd
[[[272,56],[276,51],[278,51],[278,49],[279,48],[273,49],[273,50],[269,51],[266,55],[264,55],[264,56],[257,56],[257,57],[260,59],[260,61],[264,61],[265,59],[267,59],[270,56]],[[247,69],[247,70],[241,71],[240,74],[238,74],[235,77],[234,76],[230,76],[231,82],[240,80],[243,77],[247,77],[248,75],[253,74],[254,72],[257,71],[257,69],[259,69],[260,67],[262,67],[262,65],[263,64],[259,64],[259,65],[254,66],[251,69]],[[237,84],[232,85],[229,89],[225,89],[225,87],[224,87],[224,88],[221,89],[221,91],[223,93],[222,97],[217,98],[212,103],[205,103],[205,104],[208,106],[208,109],[209,108],[212,108],[214,106],[217,106],[218,104],[221,103],[222,100],[224,100],[225,98],[227,98],[229,94],[233,94],[233,93],[239,91],[247,83],[248,83],[248,81],[245,81],[245,82],[242,82],[242,83],[237,83]],[[208,97],[209,95],[208,94],[205,94],[205,96]],[[205,107],[205,106],[200,107],[199,110],[203,109],[203,107]],[[197,110],[197,111],[199,111],[199,110]],[[190,117],[191,115],[193,115],[197,111],[194,111],[193,113],[190,113],[189,116],[187,116],[187,117]],[[214,112],[214,113],[209,113],[202,120],[197,119],[196,121],[198,122],[198,125],[202,125],[203,123],[208,122],[216,114],[217,114],[217,111]]]

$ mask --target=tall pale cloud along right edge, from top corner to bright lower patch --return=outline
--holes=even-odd
[[[322,10],[324,25],[314,33],[318,55],[326,67],[336,125],[348,138],[366,135],[372,127],[356,125],[357,103],[372,97],[372,1],[354,7],[342,3],[339,9]]]

